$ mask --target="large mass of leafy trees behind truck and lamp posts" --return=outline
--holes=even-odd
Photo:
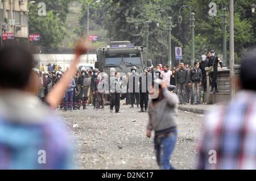
[[[88,0],[89,1],[89,0]],[[87,1],[87,2],[88,2]],[[149,52],[150,58],[154,61],[160,61],[162,64],[167,62],[168,50],[168,23],[165,10],[172,16],[174,24],[177,23],[179,9],[182,5],[191,7],[195,12],[195,54],[199,57],[205,53],[206,49],[215,49],[218,54],[222,54],[222,10],[221,4],[218,5],[217,16],[210,18],[208,15],[209,3],[214,0],[110,0],[94,9],[92,6],[92,15],[90,18],[97,24],[98,28],[104,28],[107,31],[109,40],[130,40],[135,45],[145,45],[146,29],[145,21],[150,20],[150,38]],[[228,0],[222,0],[224,6],[228,6]],[[255,18],[252,18],[250,12],[250,0],[235,2],[235,53],[236,60],[239,61],[243,52],[255,46],[256,26]],[[80,25],[83,26],[87,11],[81,12]],[[103,13],[102,13],[103,12]],[[189,28],[189,9],[184,8],[181,12],[183,23],[172,29],[172,55],[174,56],[174,47],[184,47],[184,57],[186,60],[191,58],[191,32]],[[135,19],[137,15],[142,14],[146,20]],[[100,22],[97,20],[100,19]],[[228,17],[229,19],[229,17]],[[139,23],[138,30],[135,29],[135,23]],[[156,26],[159,23],[159,27]],[[103,27],[102,27],[103,26]],[[83,28],[84,30],[84,28]],[[229,26],[228,26],[229,30]],[[229,32],[229,31],[228,31]],[[229,44],[229,33],[227,35],[227,44]],[[174,59],[174,57],[172,57]]]

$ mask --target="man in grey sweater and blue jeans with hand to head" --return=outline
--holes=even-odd
[[[167,90],[164,81],[156,79],[154,81],[154,91],[150,91],[155,99],[152,99],[149,107],[149,123],[147,126],[147,137],[151,137],[154,130],[154,147],[156,160],[160,169],[172,170],[170,158],[177,141],[177,95]]]

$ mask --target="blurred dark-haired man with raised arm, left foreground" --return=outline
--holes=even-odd
[[[0,50],[0,169],[72,168],[71,141],[49,106],[63,98],[86,46],[76,48],[71,70],[47,95],[48,106],[36,98],[32,54],[20,47]]]

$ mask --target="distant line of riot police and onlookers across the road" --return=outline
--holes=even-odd
[[[87,110],[88,106],[93,106],[96,111],[104,110],[106,105],[110,105],[110,112],[119,112],[120,99],[126,94],[126,104],[130,108],[141,108],[139,112],[147,112],[150,89],[154,84],[154,79],[162,79],[167,87],[179,96],[179,104],[200,104],[201,91],[207,91],[207,76],[205,68],[210,69],[211,92],[218,92],[217,70],[218,64],[222,68],[220,58],[215,56],[214,50],[207,55],[201,56],[201,62],[196,61],[193,66],[180,63],[171,69],[168,65],[159,64],[154,68],[145,68],[142,73],[137,72],[136,66],[131,68],[127,75],[114,68],[110,69],[110,75],[101,73],[98,69],[86,70],[84,67],[78,69],[72,79],[69,88],[59,108],[67,110]],[[53,69],[55,68],[55,69]],[[65,72],[58,65],[48,64],[48,71],[34,69],[40,79],[38,97],[42,100],[46,98],[48,92],[63,77]],[[99,89],[99,90],[98,90]],[[123,97],[124,98],[124,97]]]

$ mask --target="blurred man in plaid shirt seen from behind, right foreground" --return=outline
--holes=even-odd
[[[256,169],[256,53],[244,58],[236,86],[225,107],[209,113],[197,169]]]

